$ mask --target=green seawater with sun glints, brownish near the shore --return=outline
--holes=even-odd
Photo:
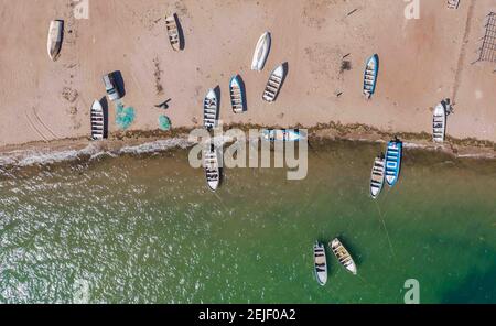
[[[216,194],[183,150],[3,173],[0,302],[403,303],[416,279],[422,303],[496,303],[496,162],[407,150],[375,202],[381,150],[314,145],[304,181],[226,170]],[[336,236],[358,276],[327,252],[322,287]]]

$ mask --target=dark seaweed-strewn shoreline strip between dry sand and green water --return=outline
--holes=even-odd
[[[224,126],[224,130],[263,129],[256,124]],[[296,127],[303,129],[303,127]],[[0,149],[0,171],[34,165],[51,165],[77,160],[90,161],[101,155],[118,156],[125,154],[149,154],[173,149],[188,149],[188,132],[193,128],[180,128],[172,131],[127,131],[114,133],[105,141],[89,141],[87,138],[64,139],[51,142],[30,142]],[[434,144],[428,133],[389,133],[364,124],[328,123],[309,128],[309,142],[326,143],[351,141],[386,143],[393,137],[400,138],[408,150],[440,152],[453,159],[496,160],[496,144],[475,139],[449,138],[443,144]]]

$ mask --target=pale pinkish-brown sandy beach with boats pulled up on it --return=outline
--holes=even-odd
[[[444,0],[421,0],[418,20],[405,18],[407,3],[399,0],[89,0],[89,19],[76,19],[69,0],[2,2],[0,148],[88,138],[89,107],[105,96],[101,76],[114,70],[123,77],[125,105],[136,109],[133,131],[158,129],[163,113],[174,128],[202,126],[203,98],[219,86],[224,123],[360,123],[430,134],[433,107],[450,98],[449,137],[496,141],[496,65],[474,63],[490,0],[462,0],[456,10]],[[166,37],[164,15],[172,12],[184,30],[182,52]],[[53,19],[65,21],[56,62],[46,54]],[[251,72],[265,31],[272,34],[269,59],[263,72]],[[366,100],[364,66],[374,53],[378,88]],[[270,72],[285,62],[278,100],[263,102]],[[247,88],[244,115],[233,113],[228,100],[236,74]],[[166,111],[154,107],[166,99]],[[112,106],[109,112],[115,134]]]

